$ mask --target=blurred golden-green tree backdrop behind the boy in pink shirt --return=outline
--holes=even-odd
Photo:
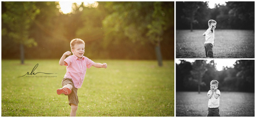
[[[58,59],[70,41],[85,41],[91,59],[174,59],[174,2],[73,3],[63,14],[58,2],[2,2],[2,59]],[[23,46],[23,47],[22,47]]]

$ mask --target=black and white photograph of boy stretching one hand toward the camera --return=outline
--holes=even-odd
[[[176,2],[176,58],[254,58],[254,3]]]

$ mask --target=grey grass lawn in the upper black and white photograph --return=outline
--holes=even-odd
[[[206,58],[205,30],[176,30],[176,58]],[[254,58],[252,30],[215,30],[214,58]]]

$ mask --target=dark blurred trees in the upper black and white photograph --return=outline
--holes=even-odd
[[[254,1],[215,4],[213,9],[207,5],[208,2],[176,2],[176,29],[207,29],[208,21],[214,19],[218,29],[254,30]]]

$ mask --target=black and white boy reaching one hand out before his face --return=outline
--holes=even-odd
[[[205,42],[204,42],[204,48],[205,48],[205,54],[206,58],[213,58],[213,51],[212,47],[214,45],[214,29],[216,28],[217,22],[215,20],[209,20],[208,26],[209,28],[206,30],[206,32],[203,33],[203,36],[205,36]]]

